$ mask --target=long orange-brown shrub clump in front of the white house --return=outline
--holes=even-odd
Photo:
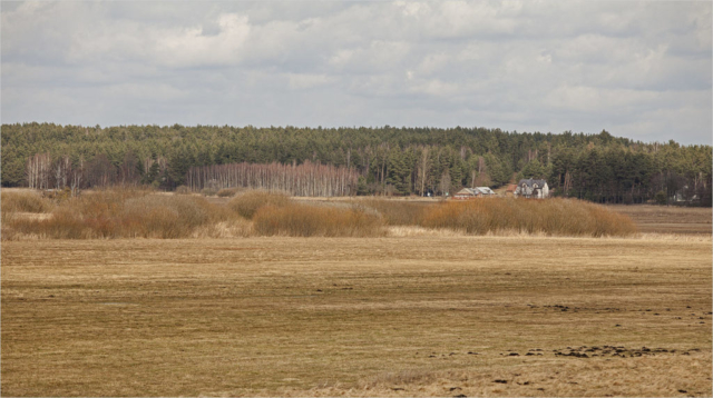
[[[631,218],[576,199],[478,199],[429,208],[422,226],[471,235],[515,231],[550,236],[631,236]]]

